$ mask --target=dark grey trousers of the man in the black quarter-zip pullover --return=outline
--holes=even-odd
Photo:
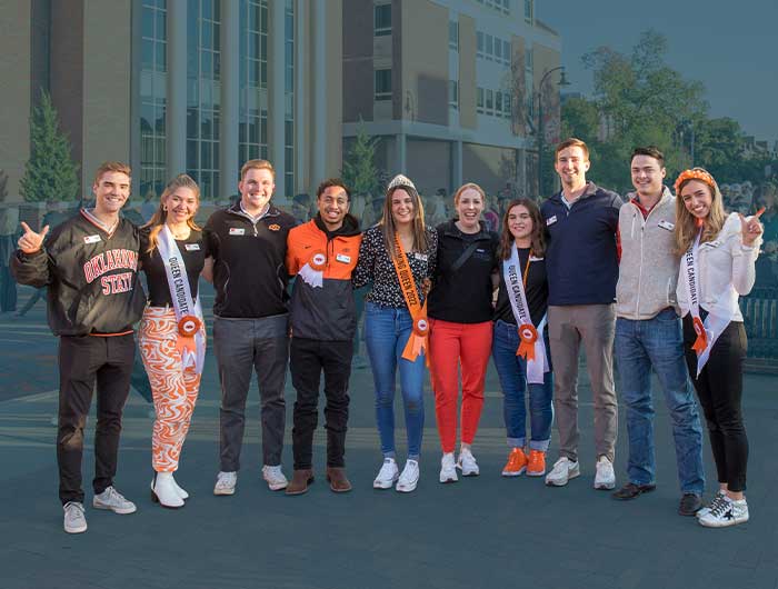
[[[289,359],[288,315],[262,319],[213,318],[213,348],[219,366],[221,470],[240,470],[246,399],[251,369],[257,372],[262,420],[262,460],[281,463],[286,403],[283,386]]]

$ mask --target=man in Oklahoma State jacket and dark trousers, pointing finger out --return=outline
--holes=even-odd
[[[119,217],[130,196],[130,168],[106,162],[94,176],[94,208],[37,233],[24,234],[11,260],[17,281],[48,288],[49,326],[60,337],[57,462],[64,531],[87,530],[81,489],[83,428],[97,382],[92,506],[132,513],[134,503],[113,488],[121,413],[134,358],[132,325],[146,305],[138,280],[137,228]],[[48,238],[47,238],[48,234]]]

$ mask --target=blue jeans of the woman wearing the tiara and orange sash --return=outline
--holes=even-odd
[[[402,358],[402,350],[412,330],[408,309],[382,307],[372,302],[365,307],[365,343],[368,347],[372,380],[376,385],[376,421],[385,458],[396,458],[395,450],[395,376],[400,368],[400,390],[406,411],[408,458],[418,460],[425,428],[425,353],[416,361]]]

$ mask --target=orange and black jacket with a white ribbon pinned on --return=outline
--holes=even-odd
[[[349,341],[357,329],[351,272],[357,266],[362,236],[359,223],[347,214],[337,231],[328,231],[321,218],[293,228],[287,239],[287,269],[296,276],[313,253],[323,252],[321,288],[297,277],[291,296],[292,337]]]

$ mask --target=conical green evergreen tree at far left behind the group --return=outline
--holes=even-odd
[[[40,93],[30,118],[30,159],[20,182],[21,197],[31,202],[78,198],[78,164],[70,157],[70,141],[59,129],[51,98]]]

